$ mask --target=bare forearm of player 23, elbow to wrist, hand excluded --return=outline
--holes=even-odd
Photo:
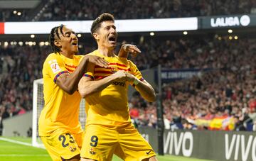
[[[87,57],[83,57],[75,71],[66,77],[65,81],[63,82],[63,90],[68,94],[73,94],[78,89],[78,83],[82,75],[85,73],[87,63]]]

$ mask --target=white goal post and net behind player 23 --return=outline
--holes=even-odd
[[[38,135],[38,118],[43,109],[43,79],[36,79],[33,81],[33,123],[32,123],[32,145],[35,147],[42,147],[43,143]],[[85,128],[85,99],[80,102],[79,120],[82,128]]]

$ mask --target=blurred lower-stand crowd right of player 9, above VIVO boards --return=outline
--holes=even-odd
[[[155,40],[139,48],[146,53],[135,60],[141,68],[161,64],[172,70],[212,69],[164,84],[166,128],[252,130],[256,121],[255,40]],[[138,126],[156,126],[156,104],[135,95],[129,106]],[[210,124],[213,118],[233,126],[215,127]]]

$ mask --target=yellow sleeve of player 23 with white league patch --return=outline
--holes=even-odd
[[[43,65],[43,70],[53,79],[53,82],[57,81],[57,78],[61,74],[68,73],[68,70],[65,68],[65,64],[61,57],[56,54],[50,54]]]

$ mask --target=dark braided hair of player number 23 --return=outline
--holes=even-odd
[[[54,28],[52,28],[52,29],[50,30],[49,42],[50,42],[50,46],[51,46],[53,52],[55,52],[55,53],[56,53],[56,52],[60,52],[60,48],[58,48],[58,46],[56,46],[56,45],[54,44],[55,35],[57,35],[57,37],[60,39],[60,35],[59,35],[59,33],[58,33],[58,29],[59,29],[59,28],[60,28],[60,33],[61,33],[62,35],[64,35],[64,34],[63,34],[63,26],[64,26],[64,25],[56,26],[56,27],[54,27]]]

